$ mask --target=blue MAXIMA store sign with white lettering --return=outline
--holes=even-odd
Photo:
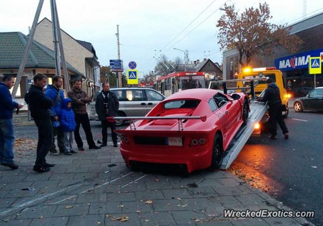
[[[281,71],[308,68],[310,57],[315,56],[320,56],[323,61],[323,49],[277,58],[275,59],[275,67]]]

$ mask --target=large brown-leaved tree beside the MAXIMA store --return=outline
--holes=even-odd
[[[266,2],[259,3],[259,8],[246,8],[241,14],[236,12],[234,5],[225,5],[225,14],[216,25],[220,28],[221,50],[236,48],[242,66],[249,65],[254,56],[273,54],[276,47],[296,52],[303,41],[296,35],[289,35],[291,27],[269,23],[271,18]],[[245,62],[242,62],[243,56]]]

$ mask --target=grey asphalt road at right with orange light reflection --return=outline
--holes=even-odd
[[[251,181],[294,210],[315,211],[308,219],[323,226],[323,113],[290,114],[285,122],[290,139],[278,128],[278,139],[269,134],[252,136],[234,163],[251,174]],[[247,175],[250,178],[250,175]]]

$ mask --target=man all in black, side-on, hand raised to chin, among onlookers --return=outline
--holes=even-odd
[[[28,92],[28,104],[31,116],[38,127],[37,157],[33,168],[36,172],[47,172],[54,164],[46,163],[46,155],[53,141],[53,124],[50,119],[50,108],[53,101],[45,96],[43,88],[46,86],[47,77],[38,73],[34,76],[34,84]]]

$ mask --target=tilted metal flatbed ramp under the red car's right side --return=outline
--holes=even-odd
[[[220,169],[228,169],[231,166],[231,164],[237,158],[243,146],[251,136],[254,130],[254,125],[261,120],[266,111],[267,104],[250,101],[248,121],[245,125],[242,125],[236,136],[231,141],[231,144],[225,152],[225,156],[223,158]]]

